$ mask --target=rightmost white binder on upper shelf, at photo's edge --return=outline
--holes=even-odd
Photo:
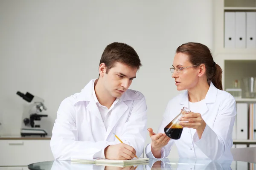
[[[246,48],[256,48],[256,12],[246,12]]]

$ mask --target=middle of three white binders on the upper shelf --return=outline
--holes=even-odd
[[[236,12],[236,34],[235,34],[235,48],[245,48],[246,46],[246,13]]]

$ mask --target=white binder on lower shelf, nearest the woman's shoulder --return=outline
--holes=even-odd
[[[248,105],[236,103],[236,139],[248,139]]]

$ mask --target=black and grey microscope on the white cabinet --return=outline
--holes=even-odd
[[[26,94],[17,91],[16,93],[20,97],[22,97],[27,102],[31,102],[29,106],[27,106],[22,114],[22,125],[21,125],[21,136],[46,136],[47,132],[44,129],[40,128],[38,122],[41,120],[41,117],[47,117],[46,114],[38,114],[43,110],[47,110],[44,106],[44,99],[40,97],[34,96],[29,92]]]

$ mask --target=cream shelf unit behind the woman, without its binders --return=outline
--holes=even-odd
[[[256,77],[256,48],[224,48],[224,12],[256,11],[256,0],[214,0],[213,5],[214,48],[212,54],[214,61],[223,70],[222,83],[223,89],[225,90],[227,88],[233,88],[231,82],[235,80],[235,77],[240,79],[240,85],[242,84],[241,77],[247,76],[247,74]],[[234,69],[231,65],[232,62],[234,62],[234,65],[237,65],[236,62],[240,62],[241,65],[239,65],[237,69]],[[248,69],[249,67],[246,67],[246,63],[255,66]],[[236,102],[256,103],[256,99],[248,99],[244,97],[244,94],[242,94],[242,98],[236,99]],[[233,139],[233,144],[247,144],[248,147],[249,144],[256,144],[256,140]]]

